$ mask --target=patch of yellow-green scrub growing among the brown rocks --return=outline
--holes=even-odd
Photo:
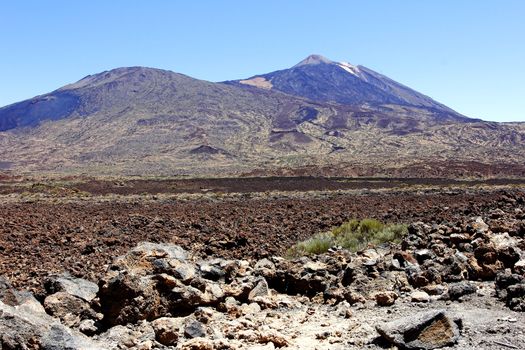
[[[375,219],[354,219],[295,244],[287,255],[295,257],[321,254],[336,246],[356,252],[387,242],[399,243],[406,233],[406,225],[383,224]]]

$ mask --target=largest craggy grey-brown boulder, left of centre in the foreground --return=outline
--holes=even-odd
[[[235,279],[240,263],[215,259],[194,261],[176,245],[141,243],[113,262],[100,280],[100,305],[107,326],[191,313],[217,306],[230,292],[247,297]],[[252,276],[252,279],[254,277]],[[226,288],[226,281],[232,287]]]

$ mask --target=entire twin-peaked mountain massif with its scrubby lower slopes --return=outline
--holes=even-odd
[[[469,119],[352,67],[310,56],[225,83],[145,67],[90,75],[0,108],[0,170],[525,174],[524,124]]]

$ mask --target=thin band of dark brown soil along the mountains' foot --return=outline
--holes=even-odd
[[[84,179],[23,180],[0,176],[0,195],[10,193],[52,193],[90,195],[141,195],[180,193],[253,193],[267,191],[334,191],[391,189],[422,186],[523,185],[525,179],[452,180],[444,178],[344,178],[344,177],[250,177],[208,179]]]

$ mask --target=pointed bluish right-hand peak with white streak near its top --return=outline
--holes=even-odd
[[[364,66],[310,55],[295,66],[238,80],[240,84],[274,89],[314,101],[345,105],[401,105],[431,109],[442,118],[465,117],[428,96]]]

